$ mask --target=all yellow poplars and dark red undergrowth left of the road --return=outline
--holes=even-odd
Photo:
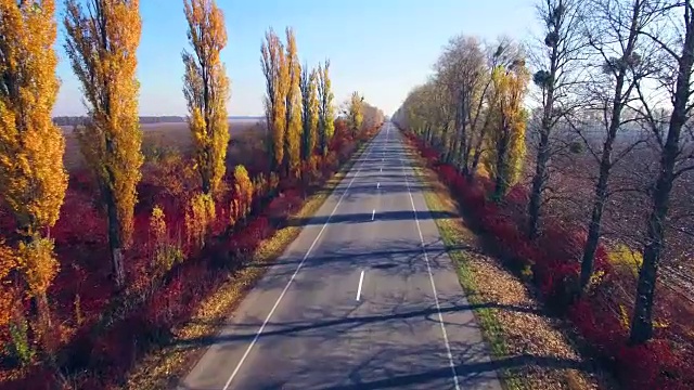
[[[0,1],[0,382],[123,387],[134,367],[181,369],[167,348],[214,332],[194,323],[229,312],[260,276],[248,264],[282,252],[297,233],[286,219],[318,209],[384,117],[363,100],[337,116],[330,62],[300,65],[293,30],[270,29],[264,129],[235,133],[223,12],[185,0],[189,131],[176,147],[146,142],[139,2],[68,0],[60,43],[89,112],[68,143],[50,117],[54,5]],[[68,170],[69,153],[82,158]]]

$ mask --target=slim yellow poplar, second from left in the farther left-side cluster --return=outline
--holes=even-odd
[[[284,146],[286,169],[290,176],[296,176],[301,164],[301,66],[296,48],[296,37],[291,27],[286,28],[286,68],[288,88],[286,90],[286,131]]]

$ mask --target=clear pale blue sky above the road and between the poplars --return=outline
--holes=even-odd
[[[268,27],[295,29],[301,63],[331,60],[336,103],[360,91],[391,114],[408,91],[426,80],[448,39],[457,34],[493,40],[527,39],[537,30],[534,0],[218,0],[228,47],[222,51],[232,82],[230,115],[261,115],[265,80],[260,43]],[[59,3],[62,1],[59,0]],[[141,115],[185,115],[181,50],[188,47],[182,0],[141,0],[138,51]],[[59,8],[62,21],[63,10]],[[54,115],[82,115],[79,83],[63,52],[62,88]]]

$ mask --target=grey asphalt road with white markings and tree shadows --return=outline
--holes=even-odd
[[[500,389],[395,126],[246,296],[179,389]]]

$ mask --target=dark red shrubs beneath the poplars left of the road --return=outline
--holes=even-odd
[[[358,142],[351,139],[344,121],[336,122],[336,136],[331,152],[317,159],[317,170],[323,179],[330,178],[347,159]],[[359,140],[371,136],[368,131]],[[246,166],[249,172],[267,172],[267,159]],[[169,235],[176,239],[183,226],[183,205],[195,184],[181,172],[182,159],[165,161],[160,167],[149,167],[140,186],[140,204],[136,209],[132,247],[127,251],[126,271],[131,284],[145,286],[149,275],[149,218],[154,204],[165,209]],[[255,167],[255,170],[254,170]],[[227,182],[231,183],[229,177]],[[75,297],[80,296],[80,310],[86,317],[81,327],[59,351],[57,363],[66,374],[89,373],[80,379],[78,388],[110,388],[121,386],[125,374],[149,348],[166,342],[170,329],[190,318],[208,291],[224,281],[229,274],[220,268],[243,264],[262,239],[274,233],[278,224],[303,203],[301,183],[284,181],[281,196],[272,199],[260,212],[254,210],[245,226],[228,232],[228,205],[231,194],[217,203],[213,237],[203,250],[187,253],[182,263],[175,265],[164,277],[163,284],[151,291],[147,299],[136,308],[118,310],[123,315],[112,324],[98,323],[104,308],[117,302],[110,280],[111,260],[106,243],[103,212],[93,207],[97,188],[87,171],[70,177],[69,188],[61,212],[61,219],[51,235],[56,240],[56,253],[61,272],[51,286],[49,296],[55,308],[56,322],[74,322]],[[254,207],[267,203],[268,194],[256,194]],[[11,231],[14,221],[0,208],[0,227]],[[223,238],[223,239],[219,239]],[[123,309],[123,308],[119,308]],[[9,384],[10,389],[42,389],[56,382],[51,369],[37,365],[24,379]],[[5,386],[5,384],[3,384]]]

